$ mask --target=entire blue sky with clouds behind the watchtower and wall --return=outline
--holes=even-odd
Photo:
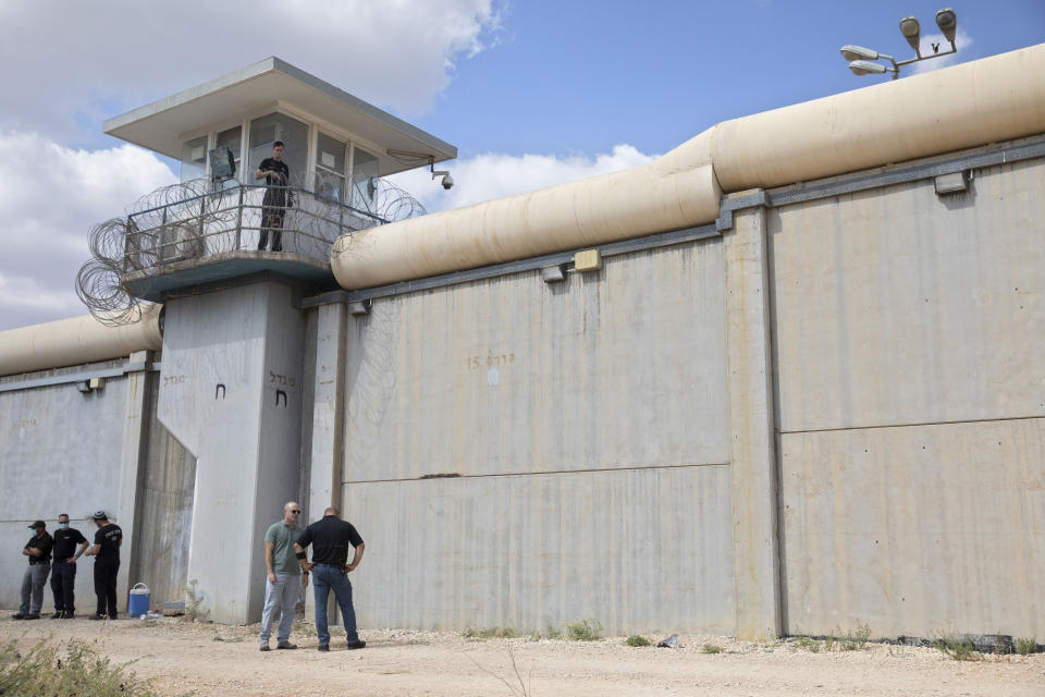
[[[177,180],[104,120],[269,56],[457,146],[397,181],[429,211],[646,163],[736,117],[847,91],[838,49],[923,54],[939,2],[800,0],[0,0],[0,331],[86,314],[91,225]],[[1045,40],[1045,0],[955,0],[958,52]],[[905,74],[908,74],[905,72]]]

